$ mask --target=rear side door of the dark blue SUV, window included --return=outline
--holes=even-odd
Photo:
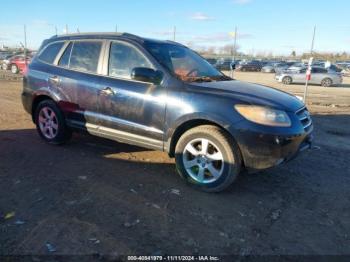
[[[71,126],[98,129],[98,82],[103,47],[103,40],[69,42],[57,61],[57,70],[49,78],[63,97],[60,107]]]

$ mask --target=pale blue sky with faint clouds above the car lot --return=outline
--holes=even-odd
[[[238,45],[246,53],[297,54],[310,50],[317,26],[315,50],[350,52],[348,0],[60,0],[3,1],[0,44],[28,46],[58,33],[118,31],[145,37],[172,39],[196,46],[233,43],[230,32],[238,27]]]

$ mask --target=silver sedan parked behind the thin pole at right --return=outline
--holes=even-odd
[[[276,74],[276,80],[283,84],[289,85],[292,83],[306,82],[306,68],[300,71],[284,71]],[[343,78],[339,73],[328,71],[323,67],[312,67],[310,84],[322,85],[325,87],[340,85]]]

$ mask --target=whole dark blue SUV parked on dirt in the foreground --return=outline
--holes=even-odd
[[[85,130],[163,150],[189,184],[208,192],[243,169],[288,161],[312,140],[310,115],[295,96],[233,80],[181,44],[125,33],[45,40],[22,100],[51,144]]]

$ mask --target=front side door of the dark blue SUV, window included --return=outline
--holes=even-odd
[[[166,90],[131,79],[133,68],[154,66],[142,51],[126,42],[111,42],[108,52],[108,76],[99,83],[99,131],[120,141],[162,149]]]

